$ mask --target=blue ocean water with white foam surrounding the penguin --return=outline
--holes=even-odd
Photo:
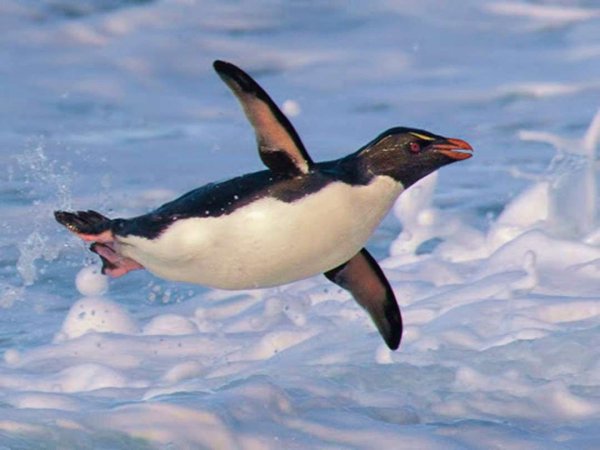
[[[596,1],[3,0],[0,27],[1,448],[600,447]],[[324,277],[107,280],[54,222],[261,169],[215,59],[315,160],[398,125],[475,148],[367,245],[398,351]]]

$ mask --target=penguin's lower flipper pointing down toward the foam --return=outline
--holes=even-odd
[[[363,248],[348,262],[325,272],[325,276],[350,291],[369,312],[387,346],[396,350],[402,338],[400,308],[390,283],[369,252]]]

